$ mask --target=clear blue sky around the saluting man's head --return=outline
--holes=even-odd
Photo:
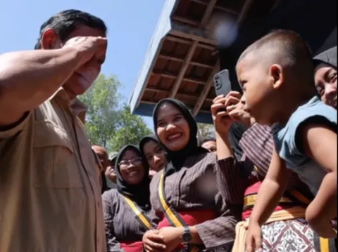
[[[87,11],[108,26],[108,52],[102,73],[114,74],[129,98],[165,0],[9,0],[0,8],[0,53],[32,49],[39,27],[69,8]],[[94,4],[96,3],[96,4]],[[151,120],[145,118],[150,125]]]

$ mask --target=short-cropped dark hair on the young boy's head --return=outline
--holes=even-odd
[[[296,32],[289,30],[275,30],[265,35],[246,48],[239,57],[237,64],[253,55],[257,60],[270,60],[291,69],[297,79],[313,82],[313,55],[305,41]]]

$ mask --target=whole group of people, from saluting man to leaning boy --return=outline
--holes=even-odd
[[[165,98],[153,135],[107,153],[77,100],[106,32],[62,11],[0,55],[1,252],[337,251],[337,47],[271,32],[239,57],[243,92],[213,100],[215,138]]]

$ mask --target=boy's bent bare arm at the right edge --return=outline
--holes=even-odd
[[[303,150],[327,171],[306,220],[321,237],[337,237],[330,221],[337,218],[337,133],[323,124],[303,128]]]

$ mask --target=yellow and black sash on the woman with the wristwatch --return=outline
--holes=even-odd
[[[170,225],[172,225],[173,227],[186,227],[187,223],[184,222],[181,216],[173,208],[170,208],[170,206],[168,206],[167,201],[165,200],[164,171],[161,172],[160,183],[158,183],[158,197],[160,198],[165,218],[168,219]],[[200,249],[197,246],[189,247],[189,252],[199,252],[199,251]]]

